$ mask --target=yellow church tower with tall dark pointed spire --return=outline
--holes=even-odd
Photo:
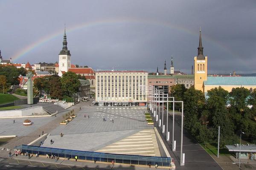
[[[204,48],[201,38],[201,27],[199,34],[198,55],[194,57],[194,79],[195,89],[204,92],[204,81],[207,81],[207,56],[204,56]]]

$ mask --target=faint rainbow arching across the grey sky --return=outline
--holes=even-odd
[[[102,25],[108,25],[108,24],[121,24],[121,23],[137,23],[137,24],[147,24],[147,25],[153,25],[153,26],[160,26],[160,27],[164,27],[164,28],[180,30],[180,31],[183,31],[187,34],[191,34],[191,35],[194,35],[194,36],[198,36],[198,34],[199,34],[198,32],[192,32],[191,30],[189,30],[187,28],[183,28],[183,27],[177,26],[177,25],[172,25],[171,23],[164,23],[164,22],[155,21],[155,20],[144,20],[144,19],[139,20],[139,19],[131,19],[131,18],[97,20],[97,21],[81,23],[81,24],[78,24],[76,26],[72,26],[72,27],[66,29],[66,32],[68,33],[68,32],[73,32],[73,31],[77,31],[77,30],[80,30],[80,29],[84,29],[84,28],[90,28],[90,27],[96,27],[96,26],[102,26]],[[64,32],[64,30],[60,29],[60,30],[56,31],[55,33],[49,34],[46,37],[42,37],[41,39],[33,42],[32,44],[29,44],[28,46],[26,46],[22,50],[17,51],[17,53],[15,53],[12,56],[12,60],[15,61],[17,59],[20,59],[21,57],[24,57],[26,54],[29,54],[29,52],[31,52],[35,48],[38,48],[39,46],[43,45],[46,42],[49,42],[50,40],[52,40],[52,39],[54,39],[58,36],[61,36],[63,34],[63,32]],[[225,51],[227,51],[228,53],[233,54],[233,52],[230,51],[229,48],[227,48],[225,45],[221,44],[220,42],[212,40],[211,38],[206,37],[205,35],[204,35],[204,40],[213,42],[219,48],[222,48]],[[236,54],[233,54],[233,55],[237,56]]]

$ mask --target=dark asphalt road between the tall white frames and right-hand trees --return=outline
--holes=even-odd
[[[158,109],[157,109],[158,111]],[[172,113],[172,112],[171,112]],[[163,114],[163,124],[165,133],[160,133],[164,143],[175,159],[176,169],[179,170],[222,170],[218,163],[193,139],[193,137],[183,128],[183,153],[185,153],[185,166],[180,166],[180,139],[181,139],[181,116],[175,114],[174,140],[176,140],[176,151],[172,151],[172,116],[169,112],[168,131],[170,132],[170,141],[166,141],[166,110]],[[160,119],[162,119],[162,109],[160,107]],[[159,132],[158,122],[154,122]]]

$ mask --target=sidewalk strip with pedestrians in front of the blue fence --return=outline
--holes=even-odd
[[[55,159],[49,159],[46,158],[45,156],[39,156],[38,158],[32,156],[30,159],[28,156],[12,156],[12,159],[17,159],[19,163],[22,163],[24,161],[30,163],[30,161],[37,161],[42,163],[43,166],[46,166],[43,163],[49,163],[49,164],[55,164],[57,167],[63,167],[63,165],[69,166],[70,169],[71,167],[76,166],[76,167],[89,167],[89,168],[101,168],[101,169],[112,169],[112,170],[148,170],[149,167],[146,165],[134,165],[134,164],[119,164],[115,163],[112,165],[110,162],[99,162],[96,161],[96,164],[94,164],[94,161],[87,161],[87,160],[77,160],[75,159],[63,159],[60,158],[57,162],[55,162]],[[21,161],[22,160],[22,161]],[[30,163],[30,164],[35,164],[35,163]],[[155,169],[154,165],[151,165],[152,169]],[[151,169],[150,168],[150,169]],[[157,169],[169,169],[169,167],[158,167]]]

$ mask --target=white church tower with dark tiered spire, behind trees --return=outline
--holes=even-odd
[[[59,75],[61,74],[61,71],[67,72],[68,69],[71,67],[71,54],[70,51],[67,50],[67,35],[66,35],[66,26],[64,30],[64,36],[63,36],[63,42],[62,42],[62,50],[59,53]]]

